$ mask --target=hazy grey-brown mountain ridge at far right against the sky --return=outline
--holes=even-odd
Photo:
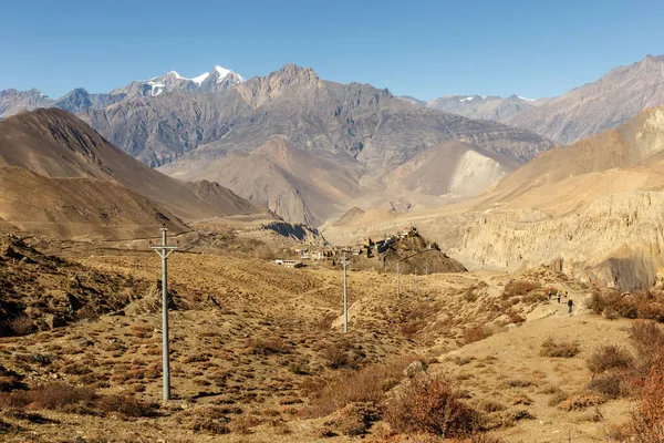
[[[446,95],[430,102],[401,99],[418,106],[522,127],[559,144],[570,144],[616,127],[646,107],[664,104],[664,55],[647,55],[553,99],[478,94]]]

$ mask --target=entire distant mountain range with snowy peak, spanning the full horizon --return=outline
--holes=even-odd
[[[248,81],[215,66],[193,79],[170,71],[56,100],[7,90],[0,117],[63,109],[152,167],[218,182],[289,222],[321,225],[353,205],[430,207],[475,195],[554,142],[664,103],[663,66],[663,56],[647,56],[554,99],[429,103],[325,81],[294,64]]]

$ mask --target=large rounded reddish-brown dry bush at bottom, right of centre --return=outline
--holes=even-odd
[[[446,377],[422,374],[396,391],[385,419],[402,433],[465,437],[478,427],[480,416],[459,400]]]

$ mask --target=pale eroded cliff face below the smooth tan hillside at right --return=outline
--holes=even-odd
[[[485,214],[452,253],[470,269],[547,265],[590,284],[644,289],[664,265],[663,226],[664,193],[612,194],[560,218]]]

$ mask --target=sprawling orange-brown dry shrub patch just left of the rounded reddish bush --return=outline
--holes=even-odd
[[[385,393],[404,377],[404,369],[417,357],[397,357],[381,364],[372,364],[360,371],[342,375],[331,383],[323,381],[309,387],[314,399],[304,410],[308,416],[324,416],[350,403],[378,405]]]

